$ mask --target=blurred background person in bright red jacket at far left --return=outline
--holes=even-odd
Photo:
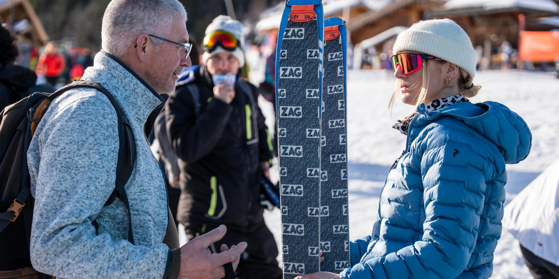
[[[55,42],[49,42],[45,46],[45,52],[39,57],[36,73],[45,76],[48,83],[56,86],[56,81],[58,81],[65,66],[64,56],[58,53],[58,46]]]

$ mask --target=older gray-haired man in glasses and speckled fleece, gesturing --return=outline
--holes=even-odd
[[[221,278],[247,247],[207,248],[225,226],[178,248],[162,173],[146,132],[183,68],[191,65],[187,13],[177,0],[113,0],[103,16],[102,51],[83,79],[111,93],[130,124],[135,165],[120,199],[117,113],[92,88],[55,98],[27,152],[35,198],[31,262],[57,278]],[[133,235],[130,242],[129,228]],[[230,270],[228,270],[231,272]]]

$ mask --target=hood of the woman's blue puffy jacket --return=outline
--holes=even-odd
[[[524,160],[532,148],[532,133],[524,119],[500,103],[461,102],[431,113],[421,104],[418,112],[418,123],[432,122],[441,116],[451,116],[463,121],[495,143],[506,163]]]

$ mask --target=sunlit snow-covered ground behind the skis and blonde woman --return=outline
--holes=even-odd
[[[378,197],[392,162],[404,149],[405,136],[392,124],[407,116],[413,107],[397,104],[387,110],[395,79],[387,71],[348,72],[348,158],[349,234],[360,238],[371,233],[377,218]],[[517,165],[508,165],[507,203],[530,181],[559,157],[559,79],[551,73],[526,71],[480,71],[475,83],[482,83],[474,103],[493,100],[505,104],[528,123],[533,134],[532,152]],[[271,104],[260,106],[273,127]],[[277,165],[273,168],[277,172]],[[277,173],[275,177],[278,177]],[[277,179],[277,178],[276,178]],[[266,223],[281,243],[280,210],[267,212]],[[279,251],[281,249],[278,248]],[[281,261],[281,256],[278,258]],[[518,241],[503,231],[495,251],[492,278],[531,278],[524,266]]]

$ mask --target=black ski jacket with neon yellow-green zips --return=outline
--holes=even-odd
[[[238,79],[235,98],[226,104],[213,98],[205,66],[184,83],[165,104],[169,141],[181,166],[178,220],[250,231],[263,222],[259,165],[273,152],[257,89]]]

